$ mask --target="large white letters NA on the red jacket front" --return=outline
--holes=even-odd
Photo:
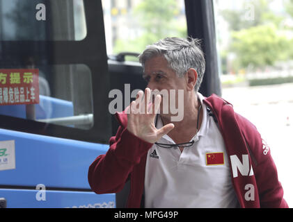
[[[230,155],[231,165],[232,165],[232,172],[233,178],[237,178],[238,171],[241,173],[242,176],[248,176],[249,173],[249,159],[248,155],[242,155],[242,162],[238,159],[237,155]],[[253,176],[253,168],[251,166],[251,172],[249,176]]]

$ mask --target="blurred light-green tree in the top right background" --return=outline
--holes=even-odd
[[[262,68],[274,62],[293,58],[293,40],[284,35],[281,22],[285,15],[276,15],[269,8],[272,0],[243,1],[239,10],[221,10],[221,16],[228,22],[231,42],[227,55],[235,54],[231,68]],[[280,1],[283,3],[283,1]],[[287,12],[293,17],[293,0],[285,0]],[[253,10],[253,19],[247,13]],[[222,58],[222,61],[225,61]],[[228,70],[229,72],[229,70]]]

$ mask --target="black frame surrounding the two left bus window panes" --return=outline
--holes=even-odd
[[[109,114],[110,79],[106,56],[106,42],[104,35],[104,18],[101,1],[84,0],[87,34],[80,41],[1,41],[2,48],[9,46],[13,58],[19,58],[17,49],[23,49],[29,55],[30,47],[40,46],[51,49],[49,55],[44,56],[47,65],[76,65],[84,64],[92,76],[93,89],[93,127],[89,130],[58,126],[42,123],[30,119],[20,119],[0,115],[0,128],[16,130],[24,133],[47,135],[65,139],[75,139],[85,142],[107,144],[111,136],[111,115]],[[40,58],[42,60],[42,58]],[[11,65],[13,64],[5,64]],[[35,66],[38,67],[38,62]]]

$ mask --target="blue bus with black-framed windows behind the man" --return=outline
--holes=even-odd
[[[212,1],[184,4],[207,60],[200,90],[221,94]],[[88,167],[118,128],[110,90],[146,83],[135,53],[107,56],[103,13],[98,0],[0,0],[0,78],[38,70],[37,103],[8,103],[0,81],[0,207],[122,207],[123,191],[91,191]]]

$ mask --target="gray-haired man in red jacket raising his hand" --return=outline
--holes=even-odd
[[[198,92],[205,72],[198,40],[167,37],[139,60],[148,86],[116,114],[120,127],[109,151],[88,170],[93,191],[117,193],[130,180],[127,207],[287,207],[255,126],[221,97]],[[152,99],[155,89],[170,94]],[[166,96],[184,101],[180,121],[160,112]]]

